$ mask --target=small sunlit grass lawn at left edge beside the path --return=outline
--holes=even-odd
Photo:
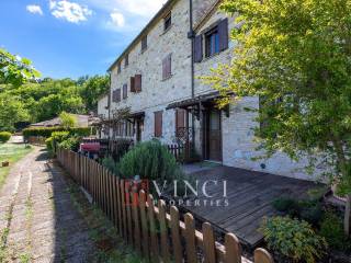
[[[0,188],[3,185],[11,167],[32,150],[33,148],[30,146],[25,147],[24,145],[0,144]],[[2,168],[1,162],[3,161],[9,161],[10,167]]]

